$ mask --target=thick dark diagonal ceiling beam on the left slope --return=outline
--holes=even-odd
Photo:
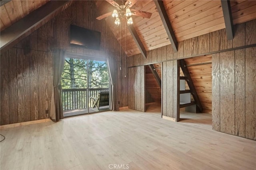
[[[69,2],[68,0],[50,1],[6,28],[0,35],[1,52],[5,51],[9,45],[12,45],[12,42],[20,38],[26,32],[42,24],[42,22],[48,22],[48,20],[52,19],[50,16],[53,17],[54,14],[56,15],[56,12],[61,11]]]

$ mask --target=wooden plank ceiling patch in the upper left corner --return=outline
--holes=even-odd
[[[8,28],[24,16],[46,4],[49,0],[12,0],[0,7],[0,30]]]

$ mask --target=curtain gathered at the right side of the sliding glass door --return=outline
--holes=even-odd
[[[111,89],[110,89],[110,94],[111,94],[110,110],[111,111],[119,111],[116,66],[117,66],[116,61],[108,57],[108,73],[109,73],[110,83],[111,83]]]

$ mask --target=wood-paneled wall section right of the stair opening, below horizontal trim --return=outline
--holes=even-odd
[[[212,56],[212,127],[256,140],[256,47]]]

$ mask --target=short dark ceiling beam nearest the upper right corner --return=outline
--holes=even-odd
[[[233,25],[230,1],[229,0],[221,0],[221,6],[222,6],[223,15],[224,15],[224,21],[225,21],[226,33],[227,33],[228,40],[233,40],[234,25]]]

